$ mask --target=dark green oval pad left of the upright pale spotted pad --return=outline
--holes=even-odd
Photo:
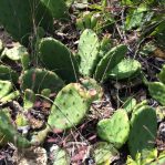
[[[75,82],[78,64],[71,51],[53,38],[42,39],[39,43],[42,65],[54,71],[62,80]]]

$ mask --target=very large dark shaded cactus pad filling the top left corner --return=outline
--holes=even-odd
[[[52,16],[40,0],[1,0],[0,11],[0,23],[22,44],[29,44],[29,37],[38,25],[52,31]]]

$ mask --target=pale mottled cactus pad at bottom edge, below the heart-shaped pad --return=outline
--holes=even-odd
[[[106,142],[99,142],[93,147],[92,157],[96,165],[110,165],[118,153],[112,144]]]

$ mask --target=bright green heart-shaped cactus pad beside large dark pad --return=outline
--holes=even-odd
[[[104,118],[97,123],[97,135],[116,148],[127,141],[130,133],[128,116],[124,110],[117,110],[111,118]]]

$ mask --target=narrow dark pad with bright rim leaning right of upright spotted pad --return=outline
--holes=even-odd
[[[105,80],[111,70],[122,61],[126,52],[127,47],[123,44],[111,49],[99,62],[94,75],[95,80]]]

